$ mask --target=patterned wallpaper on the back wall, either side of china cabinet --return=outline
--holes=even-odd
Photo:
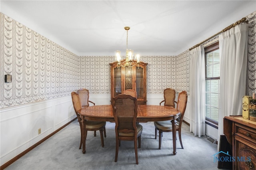
[[[147,65],[147,93],[163,93],[175,88],[175,56],[142,56]],[[80,56],[80,87],[90,93],[110,94],[110,65],[114,56]]]

